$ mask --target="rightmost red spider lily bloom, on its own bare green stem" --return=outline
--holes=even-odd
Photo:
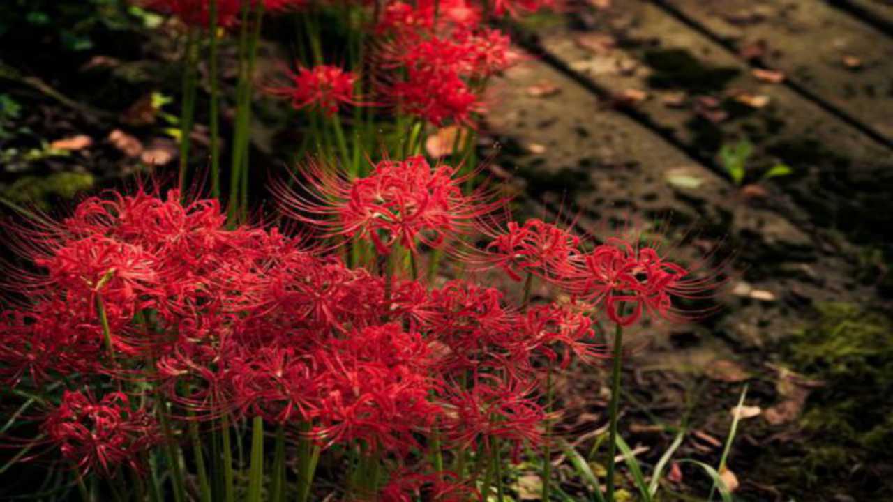
[[[572,288],[585,300],[604,303],[605,314],[620,326],[630,326],[645,312],[673,322],[695,314],[673,305],[672,298],[701,300],[722,285],[714,274],[698,278],[680,264],[664,259],[654,247],[634,247],[609,238],[581,257],[580,279]]]

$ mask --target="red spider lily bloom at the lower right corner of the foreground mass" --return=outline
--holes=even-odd
[[[503,380],[480,374],[472,389],[453,386],[447,397],[443,421],[447,438],[456,448],[489,448],[485,439],[498,438],[513,444],[515,456],[524,442],[536,445],[542,439],[540,424],[546,418],[534,393],[536,383]]]

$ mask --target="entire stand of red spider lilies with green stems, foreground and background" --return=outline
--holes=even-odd
[[[610,361],[613,502],[622,332],[707,314],[697,305],[720,281],[639,238],[515,222],[480,183],[484,90],[521,60],[491,21],[555,5],[139,4],[183,34],[178,185],[10,226],[21,259],[4,270],[0,380],[13,461],[62,473],[85,502],[464,502],[505,500],[509,464],[536,458],[550,500],[555,379]],[[271,15],[295,18],[299,57],[255,86]],[[341,23],[338,46],[323,44],[323,17]],[[229,43],[226,170],[217,58]],[[202,185],[189,146],[202,88],[209,198],[186,189]],[[253,219],[256,94],[293,108],[304,140],[271,183],[278,212]],[[454,145],[426,156],[445,126]]]

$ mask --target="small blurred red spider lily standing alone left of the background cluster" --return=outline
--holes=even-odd
[[[318,107],[323,113],[333,115],[338,105],[361,105],[354,97],[356,75],[337,66],[321,64],[313,68],[299,67],[296,72],[288,72],[292,86],[270,88],[275,96],[288,97],[291,105],[300,110],[305,107]]]

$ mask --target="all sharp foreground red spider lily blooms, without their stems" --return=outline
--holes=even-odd
[[[484,230],[480,214],[492,209],[421,157],[379,163],[365,179],[317,174],[334,190],[313,206],[332,216],[330,235],[371,240],[383,254]],[[21,234],[44,272],[18,275],[35,302],[2,316],[0,374],[38,392],[64,377],[44,428],[82,472],[139,468],[161,440],[151,417],[162,397],[181,411],[174,426],[177,416],[260,416],[301,425],[322,448],[384,450],[402,474],[382,500],[421,487],[454,499],[471,488],[428,477],[430,456],[418,456],[435,426],[447,447],[487,451],[498,440],[517,454],[542,440],[543,363],[605,356],[593,305],[628,325],[706,288],[651,247],[615,239],[587,252],[571,230],[538,220],[488,230],[480,263],[534,274],[570,301],[514,306],[467,280],[431,289],[348,268],[275,229],[225,223],[215,200],[140,189],[89,198],[60,224]],[[121,390],[94,397],[85,389],[97,378]]]

